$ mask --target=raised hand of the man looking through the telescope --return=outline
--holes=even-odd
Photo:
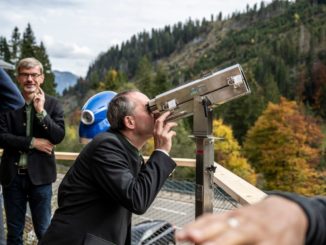
[[[175,122],[166,122],[166,118],[171,112],[165,112],[155,120],[154,125],[154,146],[155,149],[161,149],[170,152],[172,147],[172,137],[176,135],[176,132],[171,130],[178,124]]]

